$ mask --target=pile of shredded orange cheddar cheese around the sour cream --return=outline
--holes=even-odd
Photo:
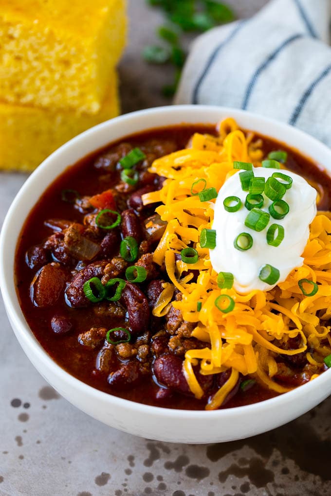
[[[295,268],[284,282],[271,291],[252,291],[241,295],[232,289],[219,289],[209,250],[199,244],[202,229],[210,229],[214,201],[200,201],[193,195],[192,185],[204,179],[206,187],[218,191],[233,169],[233,161],[261,165],[261,140],[253,133],[247,136],[233,119],[219,124],[219,135],[194,134],[189,148],[155,160],[150,172],[167,179],[159,191],[143,195],[144,204],[161,202],[156,212],[167,222],[166,230],[154,253],[154,261],[165,264],[169,280],[182,293],[172,301],[184,320],[193,322],[192,336],[206,343],[199,350],[185,355],[184,373],[191,391],[201,398],[203,391],[194,372],[199,364],[203,375],[231,370],[229,379],[208,401],[206,409],[218,408],[238,381],[239,373],[250,375],[265,387],[282,393],[289,388],[275,380],[279,355],[306,353],[307,361],[316,368],[316,377],[323,369],[323,360],[331,353],[331,214],[319,212],[310,226],[310,237],[304,250],[304,264]],[[188,265],[176,261],[176,253],[195,248],[199,259]],[[190,271],[198,270],[195,280]],[[183,278],[183,273],[189,276]],[[192,274],[192,273],[191,273]],[[318,292],[305,296],[298,285],[307,278],[318,283]],[[217,309],[214,302],[220,295],[229,295],[235,307],[229,313]],[[164,315],[170,308],[173,293],[162,292],[154,314]],[[198,310],[197,303],[201,303]],[[289,338],[299,336],[297,349],[288,349]]]

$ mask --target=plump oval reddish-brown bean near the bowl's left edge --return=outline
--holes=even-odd
[[[36,307],[51,307],[63,290],[66,272],[60,263],[48,263],[37,272],[30,286],[30,297]]]

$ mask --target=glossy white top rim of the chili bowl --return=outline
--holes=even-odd
[[[276,408],[285,406],[288,402],[295,401],[296,398],[302,397],[304,395],[309,395],[310,391],[315,389],[315,387],[323,387],[324,384],[329,382],[331,370],[323,372],[320,376],[316,377],[314,380],[311,380],[301,386],[298,386],[292,389],[291,391],[249,405],[243,405],[233,408],[223,408],[220,410],[213,410],[213,411],[171,409],[160,406],[146,405],[143,403],[137,403],[132,400],[114,396],[111,393],[106,393],[104,391],[96,389],[92,386],[89,386],[80,379],[74,377],[69,372],[66,372],[60,365],[58,365],[51,358],[51,356],[41,346],[39,341],[33,335],[32,331],[30,330],[24,318],[23,312],[19,306],[18,297],[15,290],[14,278],[13,278],[13,265],[8,263],[6,245],[10,241],[10,235],[9,235],[10,225],[12,222],[15,222],[17,220],[17,207],[19,203],[22,201],[22,199],[24,199],[26,195],[29,195],[29,191],[31,190],[31,187],[34,184],[36,184],[39,176],[43,175],[46,171],[48,171],[50,169],[50,166],[55,160],[58,159],[61,160],[62,155],[67,150],[74,147],[76,144],[83,142],[85,138],[90,137],[95,133],[98,133],[99,131],[103,130],[105,127],[109,125],[114,126],[117,124],[126,123],[130,121],[132,117],[140,118],[143,116],[148,116],[148,115],[151,116],[155,114],[164,114],[164,113],[171,114],[173,112],[183,112],[185,115],[197,114],[197,121],[196,121],[197,124],[203,123],[203,120],[201,118],[204,112],[206,113],[214,112],[215,114],[219,112],[220,114],[227,114],[229,115],[229,117],[233,117],[236,120],[240,120],[241,117],[245,116],[247,118],[251,118],[252,120],[257,120],[261,123],[270,124],[279,129],[283,129],[283,130],[287,129],[288,132],[290,132],[292,136],[296,136],[297,139],[308,140],[312,145],[318,147],[322,153],[329,155],[331,161],[331,149],[329,149],[325,144],[323,144],[316,138],[312,137],[311,135],[305,133],[304,131],[294,128],[289,124],[284,124],[274,119],[270,119],[258,115],[256,113],[228,108],[228,107],[210,106],[210,105],[199,105],[199,106],[175,105],[175,106],[155,107],[155,108],[131,112],[129,114],[125,114],[117,118],[111,119],[109,121],[106,121],[104,123],[93,126],[92,128],[84,131],[78,136],[72,138],[70,141],[66,142],[59,149],[53,152],[49,157],[47,157],[42,162],[42,164],[25,181],[23,186],[21,186],[20,190],[16,194],[14,200],[12,201],[8,209],[8,212],[5,216],[0,232],[0,289],[5,305],[5,309],[7,311],[7,315],[9,317],[13,331],[17,337],[17,340],[19,341],[23,349],[25,349],[25,346],[30,349],[32,348],[36,358],[38,359],[38,361],[40,361],[41,364],[44,363],[44,365],[51,372],[53,372],[58,377],[58,379],[60,379],[64,383],[67,383],[70,387],[74,388],[77,391],[77,393],[79,392],[85,397],[89,397],[91,399],[96,399],[109,403],[109,405],[112,405],[114,407],[119,406],[127,410],[131,410],[132,413],[136,412],[140,414],[149,414],[149,415],[153,414],[156,417],[161,418],[166,416],[171,419],[175,419],[175,418],[183,419],[184,417],[187,417],[189,419],[195,419],[195,420],[205,420],[206,418],[225,420],[226,418],[229,417],[234,418],[234,417],[242,416],[245,412],[247,413],[250,412],[251,415],[252,414],[254,415],[255,413],[258,414],[261,412],[261,410],[263,410],[264,407],[265,408],[270,407],[272,409],[275,409],[274,411],[276,411]],[[187,121],[184,118],[183,123],[185,122]],[[162,127],[162,125],[160,125],[159,127]],[[151,126],[150,128],[156,128],[156,127]],[[148,127],[146,127],[145,129],[148,129]],[[135,132],[139,132],[139,131],[135,131]],[[132,134],[132,132],[127,134],[127,136],[130,134]],[[126,135],[122,135],[122,137],[125,138]],[[121,137],[116,138],[115,141],[118,141],[120,139]],[[293,140],[293,138],[290,138],[289,141],[291,140]],[[110,141],[110,143],[111,142],[112,141]],[[96,150],[98,150],[99,148],[96,148]],[[93,153],[93,150],[88,152],[88,154],[89,153]],[[86,153],[82,155],[81,158],[83,158],[84,156],[86,156]],[[316,160],[314,161],[316,162]],[[66,167],[70,167],[70,166],[66,166]],[[63,174],[65,169],[62,169],[60,172],[57,171],[56,173],[51,172],[50,174],[51,180],[48,182],[48,186],[50,186],[56,180],[56,178],[58,178],[61,174]],[[328,172],[327,167],[323,167],[323,169],[325,169]],[[41,196],[42,192],[37,195],[35,201],[38,201],[38,198]],[[20,224],[20,232],[29,213],[30,211],[28,212],[28,214],[24,214],[22,216],[23,220],[22,223]],[[17,238],[15,240],[15,247],[17,247]],[[14,259],[14,255],[15,254],[10,254],[9,256],[11,256]],[[24,345],[22,343],[24,343]],[[308,409],[309,407],[307,407],[307,410]]]

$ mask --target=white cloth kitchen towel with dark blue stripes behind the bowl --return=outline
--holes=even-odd
[[[176,104],[246,109],[331,147],[331,0],[272,0],[254,17],[199,36]]]

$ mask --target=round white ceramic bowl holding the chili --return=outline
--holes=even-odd
[[[142,129],[180,123],[216,123],[233,117],[240,126],[284,141],[331,170],[331,150],[307,134],[264,117],[221,107],[173,106],[134,112],[99,124],[48,157],[14,199],[0,236],[0,286],[16,337],[36,369],[70,403],[122,431],[171,442],[229,441],[260,434],[307,412],[331,393],[331,370],[297,389],[249,406],[186,411],[141,405],[98,391],[59,367],[38,343],[19,307],[13,280],[14,253],[27,213],[44,189],[80,158]]]

